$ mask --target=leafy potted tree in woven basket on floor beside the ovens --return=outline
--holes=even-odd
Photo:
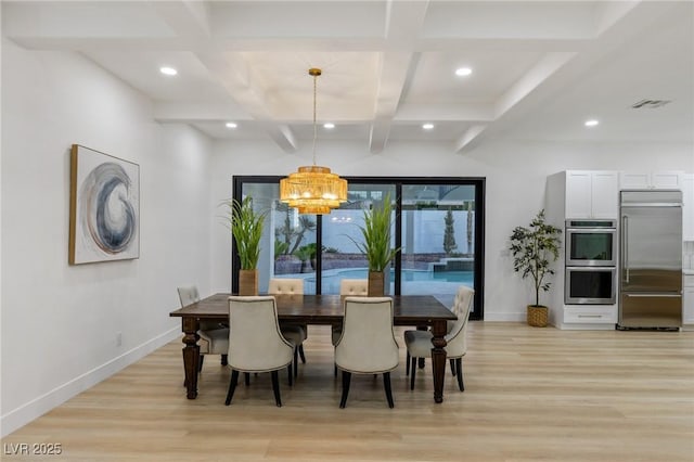
[[[552,262],[560,256],[562,230],[544,221],[544,210],[526,227],[516,227],[511,234],[510,251],[513,254],[513,270],[523,279],[530,278],[535,288],[535,304],[528,305],[528,324],[544,328],[548,323],[548,307],[540,305],[540,290],[550,290],[545,278],[554,274]]]

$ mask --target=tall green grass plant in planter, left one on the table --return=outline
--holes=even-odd
[[[258,259],[260,258],[260,239],[266,211],[253,208],[253,198],[246,196],[242,202],[224,201],[228,210],[227,224],[234,239],[234,245],[241,270],[239,271],[239,295],[258,295]]]

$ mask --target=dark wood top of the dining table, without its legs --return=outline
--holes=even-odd
[[[231,294],[215,294],[169,313],[175,318],[226,319]],[[307,324],[334,324],[343,320],[344,296],[340,295],[275,295],[278,318]],[[393,296],[396,325],[428,325],[433,321],[455,320],[444,304],[433,295]]]

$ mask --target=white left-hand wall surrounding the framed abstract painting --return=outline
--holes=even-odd
[[[207,138],[153,123],[145,98],[77,54],[3,40],[2,61],[7,435],[180,335],[176,286],[209,293],[213,205]],[[139,259],[67,265],[73,143],[140,165]]]

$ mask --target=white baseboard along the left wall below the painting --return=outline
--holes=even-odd
[[[176,326],[170,331],[139,345],[111,361],[86,372],[72,381],[53,388],[52,390],[39,396],[38,398],[11,410],[0,418],[0,434],[2,437],[11,434],[17,428],[28,424],[33,420],[43,415],[48,411],[83,390],[91,388],[99,382],[108,378],[116,372],[144,358],[152,351],[168,344],[181,335],[181,328]]]

